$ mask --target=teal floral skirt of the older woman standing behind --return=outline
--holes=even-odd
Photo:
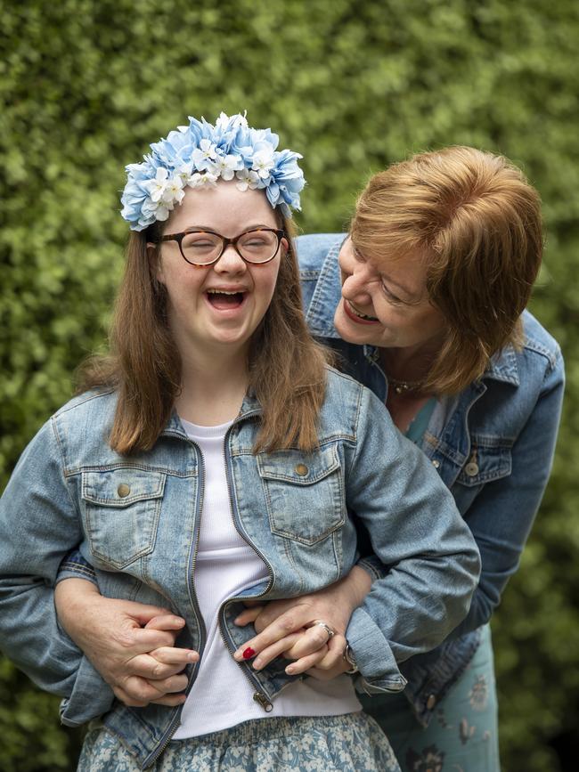
[[[404,695],[380,695],[363,703],[386,732],[403,772],[501,772],[488,625],[469,666],[438,703],[428,727],[414,718]]]

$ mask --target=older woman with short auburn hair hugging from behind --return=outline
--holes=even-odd
[[[341,367],[371,387],[424,451],[482,557],[466,619],[434,651],[403,663],[403,695],[373,696],[365,709],[408,772],[496,772],[488,622],[549,478],[564,387],[559,346],[525,310],[542,257],[539,197],[500,156],[466,147],[422,153],[371,178],[348,234],[303,236],[298,257],[314,336],[338,351]],[[366,551],[361,565],[379,577]],[[357,567],[331,589],[241,614],[240,623],[255,620],[263,630],[248,645],[264,663],[286,651],[302,670],[316,662],[317,644],[311,630],[296,643],[297,631],[322,618],[337,635],[309,672],[343,671],[342,634],[367,575]],[[102,638],[116,619],[103,617]],[[151,675],[121,660],[110,654],[100,662],[119,679]],[[131,684],[143,688],[138,682]],[[165,690],[150,679],[139,694],[152,698],[155,683]]]

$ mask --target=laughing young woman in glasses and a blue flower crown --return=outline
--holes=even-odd
[[[113,355],[32,440],[0,502],[2,647],[68,697],[69,723],[102,716],[82,770],[397,769],[351,679],[252,665],[234,623],[242,601],[350,572],[357,525],[383,575],[348,624],[342,670],[369,693],[401,690],[398,662],[468,611],[478,554],[452,496],[307,333],[287,216],[303,176],[276,145],[241,116],[192,118],[127,167]],[[159,658],[185,667],[184,703],[113,702],[63,634],[53,585],[76,544],[103,595],[183,618],[180,651]]]

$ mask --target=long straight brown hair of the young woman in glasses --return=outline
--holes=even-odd
[[[275,215],[290,246],[250,346],[249,387],[263,410],[254,451],[290,446],[310,451],[318,443],[328,353],[310,336],[302,313],[291,221],[279,210]],[[122,454],[151,449],[181,387],[181,358],[167,324],[167,292],[147,256],[147,242],[157,242],[161,231],[161,224],[154,223],[147,231],[131,232],[110,330],[111,353],[90,358],[80,370],[80,391],[117,390],[110,446]]]

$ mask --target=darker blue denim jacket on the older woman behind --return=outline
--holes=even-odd
[[[345,238],[332,233],[297,240],[306,319],[314,336],[338,352],[339,366],[385,402],[387,379],[378,350],[349,344],[334,328],[341,296],[338,252]],[[517,571],[550,475],[565,385],[563,360],[557,342],[531,313],[523,314],[523,323],[522,349],[507,346],[482,378],[438,404],[421,444],[453,493],[482,560],[467,617],[441,646],[401,666],[408,679],[404,694],[425,726],[475,653],[481,625]]]

